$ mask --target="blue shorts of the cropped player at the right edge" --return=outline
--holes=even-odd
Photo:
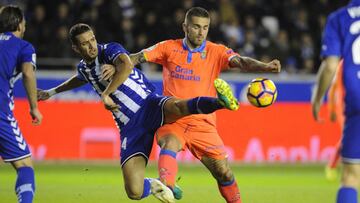
[[[346,118],[341,156],[345,163],[360,164],[360,115]]]

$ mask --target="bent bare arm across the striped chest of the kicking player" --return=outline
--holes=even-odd
[[[117,88],[125,82],[134,67],[127,54],[119,54],[114,61],[114,66],[115,73],[112,80],[101,95],[101,99],[107,110],[118,110],[119,107],[110,98],[110,94],[115,92]]]

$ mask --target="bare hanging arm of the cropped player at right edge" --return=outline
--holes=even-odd
[[[311,97],[313,117],[316,121],[319,121],[319,111],[322,98],[335,77],[339,60],[340,58],[337,56],[329,56],[321,62],[319,72],[317,74],[315,89]]]

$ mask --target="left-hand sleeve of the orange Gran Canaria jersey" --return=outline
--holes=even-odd
[[[159,42],[147,49],[143,50],[146,61],[157,64],[164,64],[166,60],[166,45],[169,41]]]

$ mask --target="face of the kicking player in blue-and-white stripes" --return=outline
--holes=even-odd
[[[93,31],[84,32],[76,36],[77,45],[75,51],[78,52],[85,61],[93,61],[98,55],[98,48]]]

